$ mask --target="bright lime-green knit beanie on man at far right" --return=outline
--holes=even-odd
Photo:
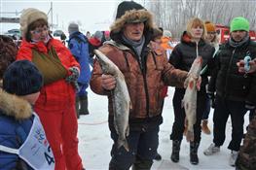
[[[250,23],[244,17],[235,17],[231,21],[231,32],[238,31],[238,30],[249,32],[249,29],[250,29]]]

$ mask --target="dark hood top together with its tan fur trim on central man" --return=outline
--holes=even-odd
[[[144,22],[145,29],[153,28],[153,16],[140,4],[124,1],[119,4],[115,22],[110,27],[111,35],[120,33],[126,23]]]

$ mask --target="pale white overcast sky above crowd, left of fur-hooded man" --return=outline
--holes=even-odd
[[[23,9],[36,8],[51,17],[53,2],[53,22],[55,29],[66,32],[68,24],[75,21],[82,32],[108,30],[116,16],[117,6],[122,0],[0,0],[0,17],[19,17]],[[139,1],[137,1],[139,2]],[[0,33],[19,28],[17,23],[0,23]]]

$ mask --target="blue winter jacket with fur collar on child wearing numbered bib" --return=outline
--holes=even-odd
[[[33,124],[32,109],[28,102],[0,89],[0,145],[18,149],[26,140]],[[32,169],[17,154],[0,151],[0,169],[18,169],[22,162],[27,170]],[[24,168],[24,169],[25,169]]]

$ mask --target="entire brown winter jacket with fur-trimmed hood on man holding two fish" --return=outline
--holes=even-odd
[[[145,44],[141,52],[141,64],[135,51],[122,38],[124,27],[130,20],[145,20],[143,32]],[[163,86],[183,86],[187,77],[187,72],[177,70],[167,62],[164,56],[165,51],[161,47],[150,43],[153,30],[153,16],[150,12],[127,11],[111,25],[110,37],[113,41],[106,42],[99,49],[119,67],[125,76],[132,105],[129,111],[129,130],[161,124]],[[110,91],[102,88],[101,75],[99,63],[95,61],[91,75],[91,89],[97,94],[108,95],[109,126],[114,128],[113,96]]]

